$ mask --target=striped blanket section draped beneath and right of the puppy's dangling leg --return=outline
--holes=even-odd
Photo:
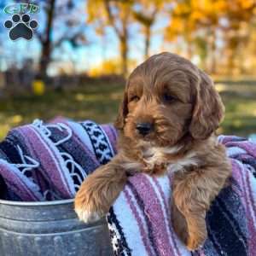
[[[108,214],[115,255],[256,255],[256,143],[220,136],[232,164],[230,185],[207,212],[208,238],[190,253],[171,224],[172,175],[137,174]]]

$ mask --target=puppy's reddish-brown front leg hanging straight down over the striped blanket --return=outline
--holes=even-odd
[[[174,175],[172,223],[189,250],[201,247],[207,239],[207,210],[229,175],[229,168],[216,167]]]

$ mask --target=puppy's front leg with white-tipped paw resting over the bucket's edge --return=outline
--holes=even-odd
[[[75,211],[84,222],[102,218],[125,186],[127,175],[119,155],[100,166],[82,183],[75,197]]]

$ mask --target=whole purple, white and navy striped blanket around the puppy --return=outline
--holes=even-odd
[[[97,166],[116,154],[112,125],[35,120],[0,143],[0,196],[17,201],[73,198]],[[207,241],[193,255],[256,255],[256,143],[220,136],[233,172],[207,212]],[[170,224],[172,176],[130,177],[108,213],[116,255],[191,255]]]

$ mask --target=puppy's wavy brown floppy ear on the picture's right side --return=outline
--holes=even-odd
[[[224,105],[212,79],[200,70],[200,83],[196,90],[189,132],[195,139],[206,139],[218,128],[223,117]]]

